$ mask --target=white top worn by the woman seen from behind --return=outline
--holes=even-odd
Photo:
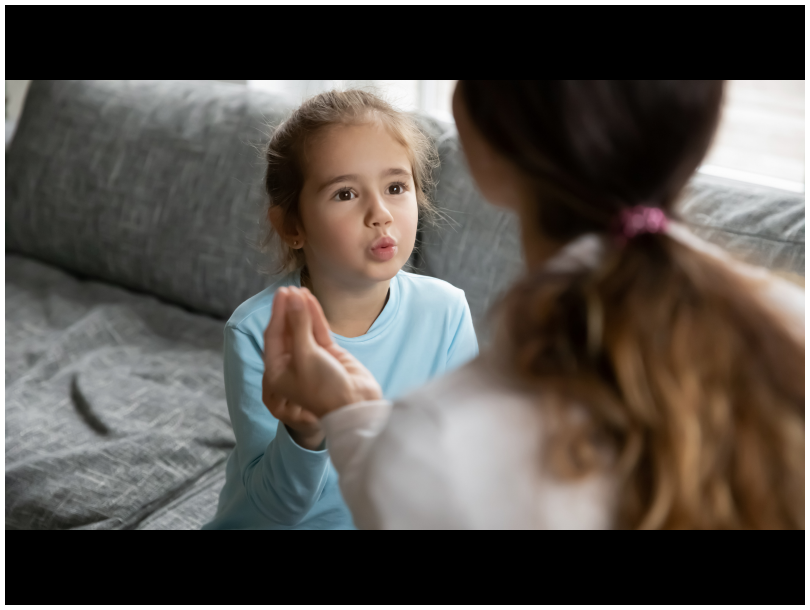
[[[804,342],[805,293],[732,261],[683,227],[669,233],[720,258],[753,285]],[[549,265],[590,266],[585,236]],[[600,529],[612,525],[613,481],[560,481],[542,463],[541,398],[502,377],[483,355],[408,395],[349,405],[323,418],[343,498],[360,528]]]

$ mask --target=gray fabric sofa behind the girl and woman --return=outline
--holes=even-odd
[[[273,280],[258,147],[289,108],[239,85],[35,81],[5,158],[6,529],[199,528],[233,446],[222,328]],[[411,265],[486,312],[521,273],[451,126],[446,214]],[[804,276],[804,196],[695,180],[696,232]]]

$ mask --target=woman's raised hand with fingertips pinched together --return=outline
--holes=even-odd
[[[306,288],[280,288],[264,332],[263,392],[285,397],[316,417],[382,391],[374,376],[329,334],[318,300]]]

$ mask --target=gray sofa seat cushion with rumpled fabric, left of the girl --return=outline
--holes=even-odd
[[[210,519],[234,445],[222,322],[15,255],[5,295],[6,529]]]

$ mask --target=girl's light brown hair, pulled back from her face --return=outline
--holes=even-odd
[[[280,208],[285,229],[294,229],[301,219],[299,197],[304,186],[302,161],[312,137],[334,125],[357,125],[371,121],[380,121],[407,149],[420,216],[425,218],[433,214],[430,193],[434,186],[433,170],[438,166],[438,154],[416,120],[366,91],[326,91],[305,101],[281,123],[265,150],[267,171],[264,186],[268,205],[270,208]],[[262,247],[266,248],[274,240],[277,240],[277,260],[281,271],[292,271],[303,266],[303,250],[290,248],[271,226]]]

